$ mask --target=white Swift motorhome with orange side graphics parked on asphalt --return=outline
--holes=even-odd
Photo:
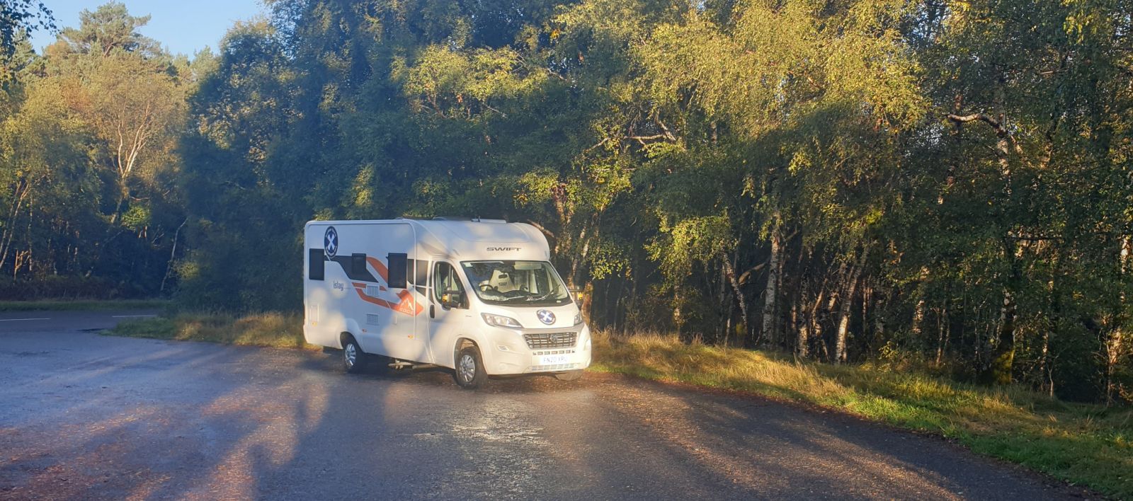
[[[310,221],[304,240],[304,336],[341,349],[348,372],[387,357],[475,388],[488,375],[572,381],[590,365],[590,330],[530,224]]]

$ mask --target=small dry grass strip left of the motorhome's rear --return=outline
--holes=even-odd
[[[104,333],[129,338],[211,341],[224,345],[317,348],[304,341],[303,319],[299,315],[282,313],[241,316],[216,313],[180,313],[173,316],[129,320]]]

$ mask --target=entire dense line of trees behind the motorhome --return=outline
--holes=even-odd
[[[599,326],[1133,399],[1128,0],[269,7],[10,56],[0,271],[291,308],[308,219],[504,218]]]

